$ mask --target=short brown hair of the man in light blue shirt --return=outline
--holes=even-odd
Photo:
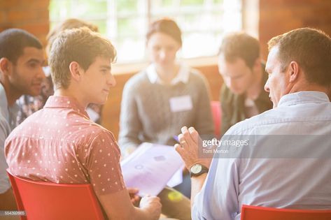
[[[300,65],[308,82],[318,85],[331,84],[331,38],[318,29],[301,28],[275,36],[268,42],[279,48],[282,71],[290,61]]]

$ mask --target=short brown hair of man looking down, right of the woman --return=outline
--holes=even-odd
[[[223,38],[218,51],[220,54],[229,62],[241,58],[249,68],[253,68],[256,59],[260,57],[260,44],[256,38],[244,32],[231,33]]]

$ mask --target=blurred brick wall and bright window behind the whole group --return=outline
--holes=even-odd
[[[116,137],[122,87],[146,67],[146,30],[160,17],[181,27],[178,58],[206,75],[213,100],[223,83],[216,54],[225,33],[242,30],[258,38],[263,59],[267,41],[291,29],[314,27],[331,35],[330,0],[0,0],[0,31],[25,29],[44,45],[48,31],[71,17],[96,24],[118,50],[113,68],[118,85],[102,112],[102,124]]]

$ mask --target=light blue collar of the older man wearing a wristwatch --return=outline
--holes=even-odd
[[[328,103],[328,96],[321,91],[298,91],[282,96],[278,106],[290,106],[302,103]]]

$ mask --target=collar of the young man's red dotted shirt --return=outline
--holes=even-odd
[[[78,113],[81,113],[88,117],[85,109],[78,103],[76,98],[71,98],[69,96],[50,96],[45,103],[44,108],[71,108]]]

